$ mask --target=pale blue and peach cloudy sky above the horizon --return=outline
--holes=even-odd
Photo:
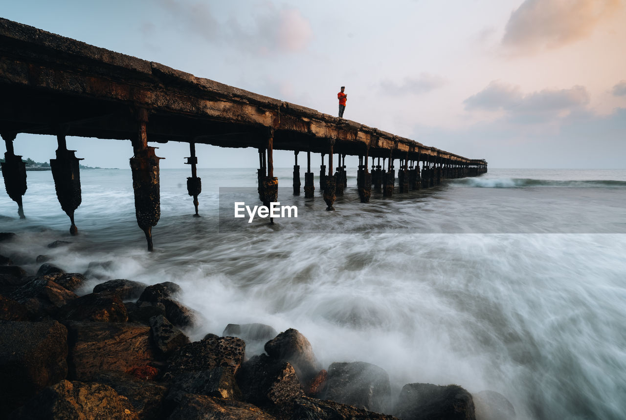
[[[623,0],[21,0],[0,16],[321,113],[346,86],[344,118],[491,168],[626,168]],[[156,146],[161,168],[185,166],[187,144]],[[48,161],[56,139],[14,148]],[[132,155],[130,141],[68,148],[106,168]],[[255,149],[197,155],[258,163]]]

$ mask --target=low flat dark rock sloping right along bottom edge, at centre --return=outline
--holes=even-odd
[[[366,411],[334,401],[322,401],[310,397],[294,400],[290,420],[398,420],[396,417]]]

